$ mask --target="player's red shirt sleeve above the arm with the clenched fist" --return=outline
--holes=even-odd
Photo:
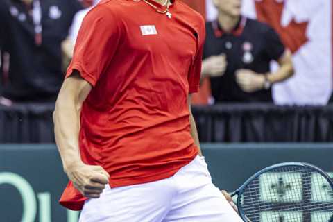
[[[103,75],[117,50],[121,35],[112,12],[107,6],[99,5],[83,19],[66,78],[77,70],[82,78],[95,86]]]

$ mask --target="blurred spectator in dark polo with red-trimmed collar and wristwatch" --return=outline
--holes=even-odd
[[[291,52],[268,26],[241,16],[241,0],[214,0],[218,19],[206,24],[202,77],[216,102],[273,102],[271,85],[293,75]],[[275,60],[280,69],[270,73]]]

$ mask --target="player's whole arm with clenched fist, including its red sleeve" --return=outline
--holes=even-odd
[[[67,176],[87,198],[99,198],[110,176],[101,166],[90,166],[80,158],[80,110],[121,42],[122,29],[114,8],[99,4],[83,19],[73,60],[67,69],[53,114],[56,142]],[[105,28],[108,27],[108,28]]]

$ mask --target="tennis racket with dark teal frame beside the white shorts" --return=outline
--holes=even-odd
[[[333,222],[333,181],[311,164],[267,167],[231,196],[246,222]]]

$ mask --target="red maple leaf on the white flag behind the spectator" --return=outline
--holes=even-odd
[[[293,18],[287,26],[282,26],[281,18],[284,1],[255,1],[255,9],[257,10],[257,19],[260,22],[270,24],[279,33],[282,42],[292,53],[298,51],[309,41],[306,35],[309,22],[296,22]]]

